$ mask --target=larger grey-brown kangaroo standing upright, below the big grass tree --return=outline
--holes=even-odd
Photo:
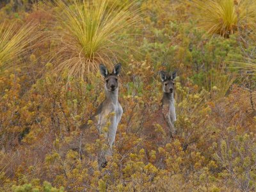
[[[122,106],[118,102],[118,76],[120,71],[121,63],[115,65],[112,73],[109,73],[108,69],[100,64],[100,73],[105,80],[104,90],[106,98],[97,109],[97,115],[99,115],[97,129],[101,134],[103,128],[108,127],[106,138],[109,145],[108,150],[102,150],[99,154],[99,165],[102,167],[106,166],[106,156],[111,155],[111,149],[116,136],[116,129],[123,113]],[[113,113],[113,115],[109,116],[111,113]],[[108,122],[110,122],[109,126],[107,125]]]

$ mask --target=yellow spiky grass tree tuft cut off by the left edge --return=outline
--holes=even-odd
[[[28,51],[31,42],[36,40],[35,24],[28,23],[20,29],[15,23],[0,24],[0,75],[4,70],[12,71],[20,64],[19,58]]]

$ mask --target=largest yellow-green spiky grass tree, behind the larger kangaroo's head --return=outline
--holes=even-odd
[[[122,5],[108,0],[54,2],[61,10],[56,13],[61,25],[56,31],[56,71],[67,69],[68,76],[88,81],[99,63],[110,67],[130,47],[127,31],[140,20],[133,1]]]

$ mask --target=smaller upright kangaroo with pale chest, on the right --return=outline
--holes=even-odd
[[[176,113],[174,106],[174,79],[177,77],[177,70],[172,72],[170,75],[162,70],[160,71],[160,77],[163,86],[163,97],[161,100],[162,112],[168,126],[170,127],[171,136],[173,136],[173,134],[175,134],[176,132],[174,127],[174,122],[176,121]]]

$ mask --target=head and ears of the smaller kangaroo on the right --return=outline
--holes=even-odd
[[[168,74],[168,72],[164,72],[161,70],[160,77],[162,80],[163,85],[163,92],[164,93],[173,93],[174,92],[174,79],[177,76],[177,70]]]

